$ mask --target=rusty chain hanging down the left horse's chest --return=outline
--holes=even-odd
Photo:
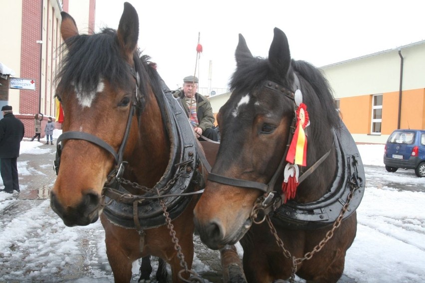
[[[159,194],[159,190],[157,190],[157,192]],[[160,203],[164,211],[165,221],[167,222],[167,228],[170,230],[171,241],[174,243],[174,249],[177,251],[177,257],[180,260],[180,266],[183,268],[178,274],[179,279],[183,282],[189,282],[189,283],[193,283],[193,282],[204,283],[204,280],[195,271],[188,269],[188,264],[185,261],[185,255],[182,252],[182,247],[180,246],[179,239],[176,236],[176,231],[174,231],[174,225],[171,223],[170,214],[167,212],[167,206],[165,205],[165,202],[162,199],[160,200]],[[189,273],[193,276],[189,278],[189,280],[184,279],[182,276],[184,272]]]

